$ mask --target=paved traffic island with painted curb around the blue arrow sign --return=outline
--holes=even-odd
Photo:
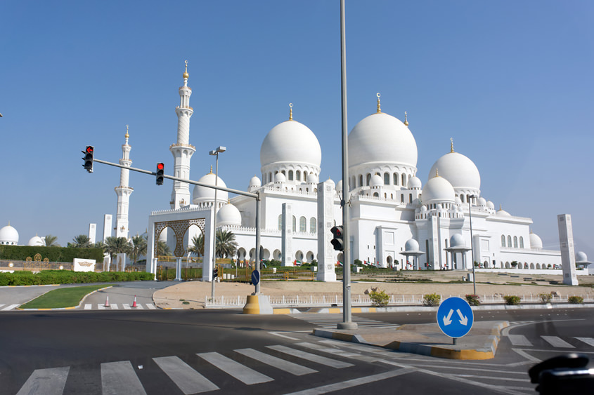
[[[314,329],[314,335],[447,359],[492,359],[501,330],[509,325],[508,321],[475,322],[470,332],[457,339],[456,344],[441,332],[437,323],[403,325],[396,329]]]

